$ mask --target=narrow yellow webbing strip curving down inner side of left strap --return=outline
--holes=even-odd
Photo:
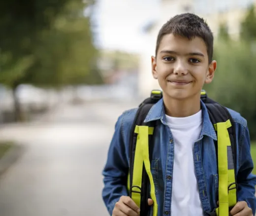
[[[153,176],[151,173],[150,169],[150,161],[149,161],[149,128],[147,126],[139,126],[139,138],[140,138],[140,145],[141,145],[141,150],[142,150],[142,156],[143,156],[143,161],[145,165],[146,172],[149,177],[150,181],[150,195],[151,198],[154,201],[153,204],[153,216],[158,215],[158,204],[157,204],[157,198],[155,194],[155,185],[153,181]]]

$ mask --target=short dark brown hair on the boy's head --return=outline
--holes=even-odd
[[[189,40],[200,37],[207,47],[209,64],[213,58],[213,33],[208,24],[200,17],[192,13],[183,13],[172,17],[160,29],[157,38],[156,56],[162,37],[166,34],[174,34],[187,37]]]

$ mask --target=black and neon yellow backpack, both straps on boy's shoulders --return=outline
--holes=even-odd
[[[140,216],[149,216],[148,198],[154,201],[153,216],[158,215],[154,180],[150,169],[154,147],[154,128],[157,120],[147,123],[144,120],[152,106],[161,98],[160,90],[151,92],[151,96],[139,105],[130,131],[128,192],[140,208]],[[208,98],[204,90],[201,91],[201,101],[206,105],[218,139],[215,141],[215,149],[218,159],[219,207],[208,214],[210,216],[228,216],[228,212],[237,202],[234,122],[227,108]]]

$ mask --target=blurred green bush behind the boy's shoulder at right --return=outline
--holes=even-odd
[[[205,89],[219,103],[240,112],[248,122],[251,138],[256,139],[256,16],[253,8],[248,9],[241,22],[240,41],[216,41],[217,70],[213,82]]]

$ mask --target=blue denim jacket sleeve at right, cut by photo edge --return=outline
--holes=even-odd
[[[256,197],[255,186],[256,176],[252,174],[254,168],[252,156],[249,129],[246,127],[239,143],[239,166],[237,173],[237,199],[238,201],[246,201],[248,206],[256,213]]]

